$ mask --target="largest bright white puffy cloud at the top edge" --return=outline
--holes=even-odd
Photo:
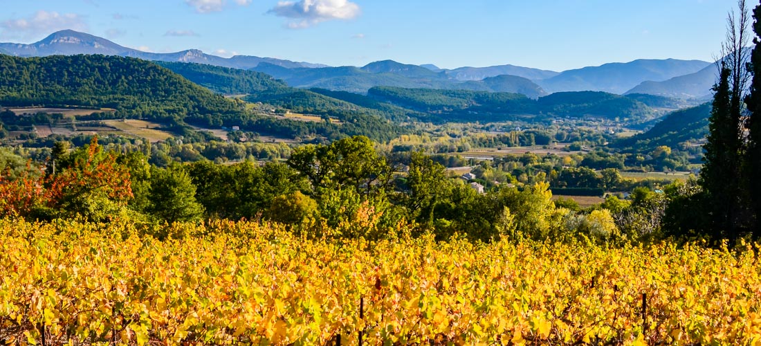
[[[300,0],[278,2],[267,13],[296,19],[288,23],[292,29],[310,27],[323,21],[349,20],[360,13],[359,5],[349,0]]]

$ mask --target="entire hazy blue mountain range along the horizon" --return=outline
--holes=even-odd
[[[515,65],[483,68],[438,68],[393,60],[362,67],[330,67],[310,62],[258,56],[223,58],[197,49],[155,53],[131,49],[110,40],[74,30],[62,30],[37,43],[0,43],[0,53],[11,56],[102,54],[158,62],[195,62],[250,69],[282,79],[292,87],[316,87],[365,94],[371,87],[463,89],[524,94],[538,98],[562,91],[605,91],[613,94],[654,94],[682,99],[710,93],[715,68],[710,62],[677,59],[641,59],[568,71],[546,71]]]

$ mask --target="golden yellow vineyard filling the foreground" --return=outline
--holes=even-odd
[[[758,344],[758,249],[0,221],[0,344]]]

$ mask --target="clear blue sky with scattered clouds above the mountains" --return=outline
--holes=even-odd
[[[756,4],[749,2],[751,6]],[[149,52],[563,71],[718,56],[736,0],[0,0],[0,42],[72,29]]]

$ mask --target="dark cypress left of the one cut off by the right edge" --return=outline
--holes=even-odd
[[[731,74],[731,69],[722,62],[719,81],[713,87],[713,109],[708,119],[708,141],[703,146],[705,156],[700,183],[709,201],[712,235],[734,239],[738,232],[735,217],[739,207],[741,141],[740,119],[733,112]]]

